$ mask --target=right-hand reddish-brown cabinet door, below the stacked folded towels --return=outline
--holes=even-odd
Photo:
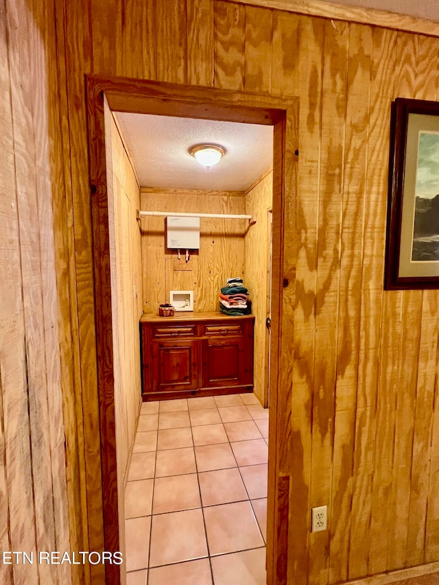
[[[244,384],[244,338],[202,340],[203,387]]]

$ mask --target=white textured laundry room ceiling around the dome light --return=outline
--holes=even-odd
[[[115,112],[141,187],[244,191],[272,166],[273,128],[170,116]],[[226,154],[205,169],[189,154],[199,143]]]

